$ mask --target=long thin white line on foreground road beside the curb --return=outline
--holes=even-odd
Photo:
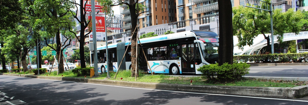
[[[6,75],[3,75],[3,76],[6,76]],[[11,77],[18,77],[18,76],[11,76]],[[28,77],[23,77],[23,78],[28,78]],[[40,78],[31,78],[31,79],[40,79]],[[40,80],[47,80],[47,79],[40,79]],[[58,81],[58,80],[49,80],[49,81]],[[63,81],[63,82],[72,82],[72,81]],[[81,83],[81,82],[73,82],[73,83],[92,84],[92,83]],[[120,88],[133,88],[133,87],[106,85],[106,84],[93,84],[93,85],[102,85],[102,86],[111,86],[111,87],[120,87]],[[180,91],[158,90],[158,89],[148,89],[148,88],[133,88],[133,89],[156,90],[156,91],[165,91],[165,92],[180,92]],[[236,95],[209,94],[209,93],[196,93],[196,92],[180,92],[180,93],[191,93],[191,94],[203,94],[203,95],[215,95],[215,96],[232,96],[232,97],[245,97],[245,98],[257,98],[257,99],[274,99],[274,100],[308,102],[306,100],[276,99],[276,98],[253,97],[253,96],[236,96]]]

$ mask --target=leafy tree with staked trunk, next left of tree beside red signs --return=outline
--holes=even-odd
[[[36,19],[34,26],[36,29],[43,28],[43,31],[39,30],[38,33],[46,40],[46,44],[47,39],[56,38],[56,48],[48,44],[47,46],[57,51],[58,56],[60,55],[58,68],[59,73],[63,73],[62,52],[71,44],[71,38],[74,38],[73,33],[70,32],[71,27],[75,25],[73,18],[71,18],[73,14],[70,12],[74,6],[66,0],[35,0],[34,5],[30,7],[42,16],[42,18]],[[60,35],[64,38],[61,38]]]

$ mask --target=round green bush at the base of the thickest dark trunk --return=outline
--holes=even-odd
[[[197,69],[200,71],[201,76],[208,80],[217,80],[217,81],[232,81],[232,80],[240,80],[242,76],[245,74],[249,74],[249,67],[250,65],[247,63],[234,63],[228,64],[224,63],[221,66],[218,64],[210,64],[204,65]],[[214,76],[217,76],[215,78]]]

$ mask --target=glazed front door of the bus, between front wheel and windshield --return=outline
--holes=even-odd
[[[182,73],[195,73],[194,44],[182,44]]]

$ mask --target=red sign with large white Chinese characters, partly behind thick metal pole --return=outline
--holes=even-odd
[[[91,20],[91,16],[88,16],[88,19]],[[95,17],[95,24],[96,32],[105,32],[105,17]],[[88,26],[92,28],[92,22]]]

